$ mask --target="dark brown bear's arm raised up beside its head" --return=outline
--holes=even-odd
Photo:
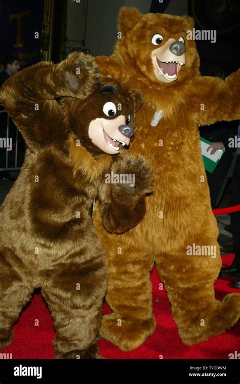
[[[99,78],[93,57],[74,52],[59,64],[40,62],[11,76],[0,89],[0,104],[28,146],[59,138],[64,110],[59,97],[85,99]]]

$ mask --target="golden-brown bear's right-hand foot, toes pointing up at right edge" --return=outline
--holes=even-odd
[[[208,340],[212,336],[224,333],[233,327],[240,318],[240,295],[231,293],[224,297],[222,302],[217,302],[217,308],[208,319],[203,316],[205,324],[195,324],[187,328],[179,328],[178,333],[184,344],[192,345]]]

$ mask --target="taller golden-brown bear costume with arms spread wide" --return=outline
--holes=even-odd
[[[149,279],[154,262],[185,344],[225,332],[240,316],[239,294],[215,298],[222,262],[198,133],[199,126],[240,119],[240,71],[225,81],[201,76],[195,43],[187,40],[193,26],[189,17],[142,15],[124,7],[122,38],[113,55],[96,58],[100,73],[143,93],[130,152],[149,160],[155,180],[144,219],[129,232],[107,233],[99,208],[94,211],[109,272],[106,301],[113,311],[103,316],[100,335],[123,351],[154,332]],[[187,253],[194,245],[201,246],[200,255]],[[215,256],[206,254],[207,246],[215,247]]]

